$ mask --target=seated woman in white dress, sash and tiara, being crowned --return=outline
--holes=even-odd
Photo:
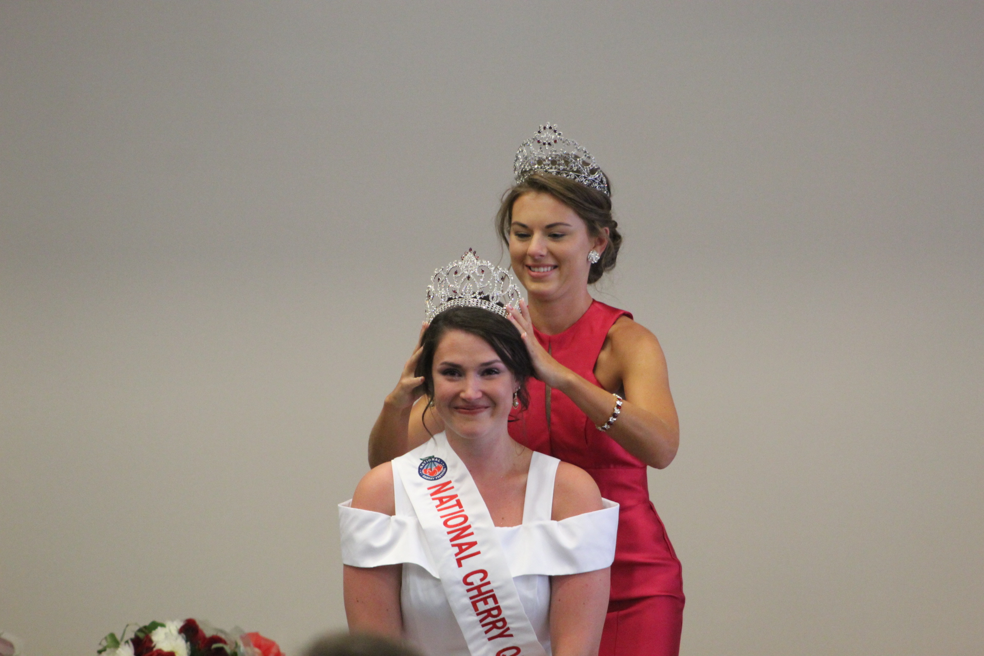
[[[472,281],[495,269],[470,251],[452,268]],[[417,375],[445,432],[374,468],[339,507],[348,626],[432,656],[593,655],[618,505],[584,470],[510,438],[532,364],[482,284],[428,293]]]

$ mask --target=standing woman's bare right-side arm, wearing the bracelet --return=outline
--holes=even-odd
[[[553,359],[536,341],[529,315],[521,308],[522,314],[513,311],[511,319],[523,333],[536,377],[567,394],[595,425],[604,424],[615,408],[615,397]],[[611,380],[599,382],[625,391],[622,412],[608,436],[650,467],[662,469],[673,461],[680,445],[662,348],[651,332],[629,319],[617,321],[608,338],[610,352],[604,355],[610,360],[606,369]]]

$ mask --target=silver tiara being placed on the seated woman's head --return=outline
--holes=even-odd
[[[479,260],[470,248],[444,268],[434,270],[427,287],[427,321],[449,308],[482,308],[502,317],[506,308],[520,307],[520,288],[513,274],[487,260]]]

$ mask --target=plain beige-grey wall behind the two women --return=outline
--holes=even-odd
[[[599,298],[669,360],[683,653],[979,653],[982,5],[606,6],[0,5],[26,653],[343,626],[335,505],[546,120],[614,182]]]

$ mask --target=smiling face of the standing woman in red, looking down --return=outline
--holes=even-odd
[[[587,288],[591,249],[608,244],[607,231],[592,236],[578,213],[550,194],[527,192],[513,204],[509,256],[530,296],[555,300]]]

